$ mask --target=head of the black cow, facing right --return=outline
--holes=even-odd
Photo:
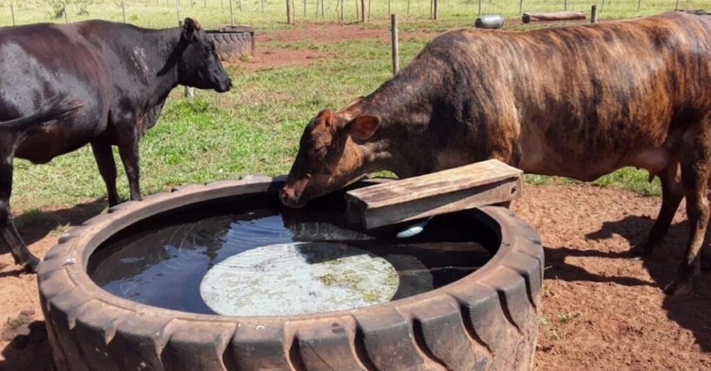
[[[178,82],[181,85],[217,92],[230,90],[232,80],[220,63],[215,43],[208,38],[200,23],[185,18],[181,45],[183,53],[178,62]]]

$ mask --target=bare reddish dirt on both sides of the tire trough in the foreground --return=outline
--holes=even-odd
[[[661,290],[683,254],[683,209],[653,258],[624,254],[646,235],[660,203],[590,185],[528,186],[514,203],[513,210],[545,244],[539,370],[711,368],[711,274],[702,272],[688,298],[668,297]],[[26,222],[21,232],[31,250],[43,256],[57,240],[50,232],[55,225],[78,225],[102,208],[97,201],[46,210],[42,220],[48,222]],[[1,264],[7,265],[0,269],[0,370],[50,370],[36,278],[17,276],[9,254],[0,256]]]

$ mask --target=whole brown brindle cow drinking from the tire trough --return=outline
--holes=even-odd
[[[669,13],[435,38],[373,94],[304,130],[280,198],[298,207],[367,173],[401,178],[498,158],[592,181],[624,167],[662,182],[651,252],[683,197],[690,238],[670,294],[688,294],[709,219],[711,16]]]

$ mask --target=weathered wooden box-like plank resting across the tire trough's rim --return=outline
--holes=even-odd
[[[346,193],[348,217],[372,229],[518,198],[523,171],[498,160]]]

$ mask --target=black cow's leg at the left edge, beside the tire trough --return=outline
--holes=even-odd
[[[11,147],[10,147],[11,148]],[[18,234],[10,215],[10,195],[12,194],[12,155],[0,158],[0,235],[10,247],[16,264],[25,269],[37,271],[40,259],[37,259]]]

